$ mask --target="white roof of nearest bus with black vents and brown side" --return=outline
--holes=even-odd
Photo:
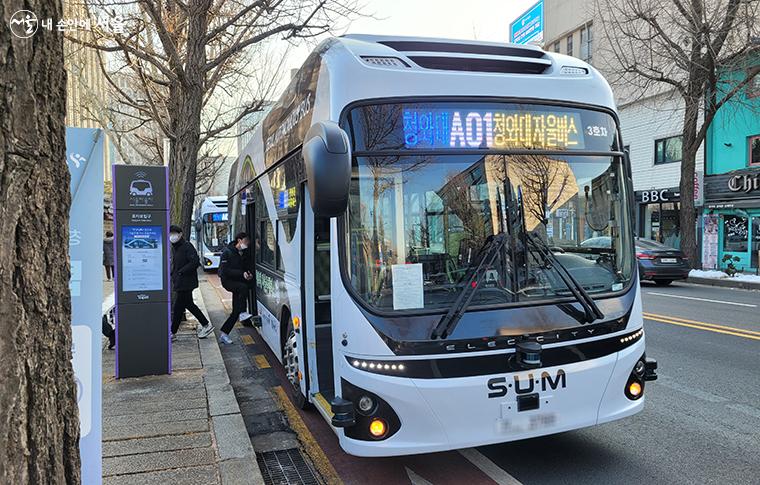
[[[614,110],[607,81],[574,57],[530,45],[350,34],[321,42],[240,154],[229,196],[303,143],[316,121],[361,100],[490,98]]]

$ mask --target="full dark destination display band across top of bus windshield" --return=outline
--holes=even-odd
[[[620,151],[602,111],[528,103],[383,103],[351,110],[354,150]]]

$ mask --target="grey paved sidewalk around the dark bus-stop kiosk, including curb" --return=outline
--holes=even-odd
[[[198,339],[196,325],[180,327],[171,375],[115,379],[104,348],[104,484],[264,483],[216,337]]]

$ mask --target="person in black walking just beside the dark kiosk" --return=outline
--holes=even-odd
[[[198,266],[201,265],[198,252],[189,241],[182,237],[182,228],[169,228],[169,241],[172,243],[172,289],[174,290],[174,305],[172,307],[172,341],[177,339],[177,330],[185,310],[195,315],[200,326],[197,329],[198,338],[206,338],[214,328],[208,318],[193,302],[193,290],[198,288]]]

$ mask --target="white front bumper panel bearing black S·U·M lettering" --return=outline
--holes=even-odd
[[[450,379],[393,377],[344,364],[344,381],[382,400],[397,419],[388,416],[387,408],[375,411],[390,431],[374,438],[365,429],[355,429],[368,427],[372,418],[357,409],[354,429],[337,429],[340,444],[357,456],[409,455],[521,440],[621,419],[644,406],[644,381],[651,379],[642,376],[636,398],[627,390],[643,355],[641,338],[597,359]],[[353,392],[352,397],[356,405],[361,396]]]

